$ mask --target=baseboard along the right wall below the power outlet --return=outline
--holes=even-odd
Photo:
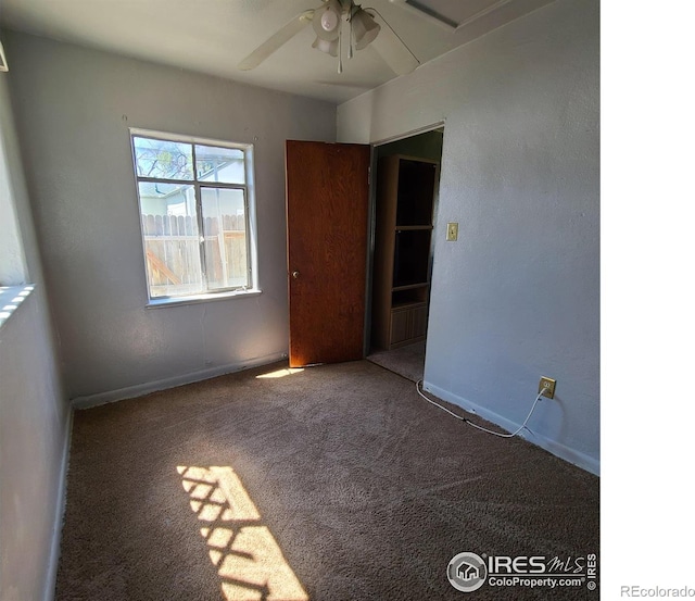
[[[462,409],[469,411],[470,413],[475,413],[476,415],[480,415],[483,420],[488,420],[488,422],[492,422],[493,424],[496,424],[497,426],[500,426],[501,428],[504,428],[507,431],[515,431],[521,425],[521,424],[516,424],[515,422],[511,422],[506,417],[503,417],[502,415],[498,415],[497,413],[494,413],[493,411],[485,409],[484,406],[480,406],[473,402],[470,402],[468,399],[458,397],[428,381],[424,383],[422,388],[424,390],[431,392],[432,395],[442,399],[443,401],[458,405]],[[557,440],[546,438],[542,435],[529,431],[527,429],[521,430],[519,433],[519,436],[525,440],[528,440],[529,442],[532,442],[533,445],[541,447],[542,449],[548,451],[549,453],[553,453],[555,456],[558,456],[569,463],[572,463],[578,467],[585,469],[586,472],[595,474],[596,476],[599,475],[601,462],[593,456],[590,456],[585,453],[582,453],[581,451],[572,449],[571,447],[567,447],[561,442],[558,442]]]

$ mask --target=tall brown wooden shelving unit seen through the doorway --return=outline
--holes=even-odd
[[[394,349],[425,340],[432,209],[439,163],[394,154],[379,160],[371,343]]]

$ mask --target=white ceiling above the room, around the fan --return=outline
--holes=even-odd
[[[553,0],[366,0],[421,64]],[[0,25],[340,103],[397,77],[372,47],[338,59],[304,27],[252,71],[237,65],[320,0],[2,0]],[[443,21],[428,15],[433,13]],[[377,16],[376,21],[386,27]],[[382,35],[381,33],[379,35]],[[12,68],[12,57],[8,55]]]

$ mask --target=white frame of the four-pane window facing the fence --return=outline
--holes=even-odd
[[[134,137],[141,138],[153,138],[156,140],[166,140],[173,142],[182,142],[190,143],[192,146],[193,152],[193,161],[194,161],[194,152],[195,145],[200,146],[212,146],[219,148],[230,148],[241,150],[244,153],[244,179],[245,184],[224,184],[218,181],[200,181],[195,174],[194,162],[193,162],[193,179],[190,180],[178,180],[178,179],[165,179],[159,177],[141,177],[138,175],[137,162],[136,162],[136,153],[135,153],[135,143]],[[156,132],[152,129],[140,129],[131,127],[129,128],[129,137],[128,141],[130,143],[130,151],[132,153],[132,173],[135,175],[135,192],[137,198],[138,205],[138,221],[140,222],[140,239],[142,241],[142,259],[144,266],[144,281],[146,289],[148,293],[148,306],[156,308],[156,306],[167,306],[172,304],[188,304],[194,302],[202,302],[208,300],[222,300],[233,297],[249,297],[261,293],[261,289],[258,288],[258,251],[257,251],[257,222],[256,222],[256,209],[255,209],[255,178],[254,178],[254,148],[252,143],[242,143],[242,142],[229,142],[225,140],[217,140],[213,138],[201,138],[198,136],[186,136],[178,134],[170,134],[165,132]],[[191,186],[194,189],[195,195],[195,211],[197,211],[197,220],[199,234],[201,235],[201,245],[200,245],[200,258],[201,265],[203,271],[203,286],[204,291],[200,293],[192,295],[179,295],[179,296],[151,296],[150,288],[150,277],[147,265],[147,242],[146,242],[146,234],[142,229],[142,220],[141,212],[142,205],[140,200],[140,190],[138,184],[141,181],[155,181],[162,184],[179,184],[185,186]],[[204,261],[204,248],[202,245],[202,201],[201,201],[201,188],[218,188],[218,189],[235,189],[235,190],[243,190],[244,192],[244,215],[245,215],[245,227],[247,227],[247,270],[248,270],[248,285],[243,287],[236,288],[222,288],[222,289],[207,289],[207,280],[205,274],[205,261]]]

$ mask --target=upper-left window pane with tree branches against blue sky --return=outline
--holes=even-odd
[[[134,136],[132,146],[138,177],[193,179],[191,145]]]

